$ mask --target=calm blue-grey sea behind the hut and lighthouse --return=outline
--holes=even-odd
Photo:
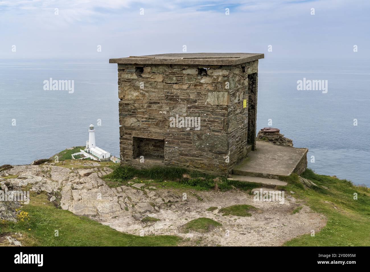
[[[0,165],[85,145],[98,119],[97,146],[119,155],[117,65],[107,62],[0,61]],[[73,79],[74,93],[44,91],[49,78]],[[297,91],[303,78],[327,80],[328,92]],[[272,119],[294,146],[309,148],[308,167],[370,187],[369,86],[370,61],[262,59],[257,127]]]

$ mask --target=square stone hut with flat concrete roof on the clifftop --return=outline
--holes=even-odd
[[[121,164],[231,173],[256,145],[258,59],[185,53],[118,64]]]

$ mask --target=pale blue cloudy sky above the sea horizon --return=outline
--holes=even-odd
[[[0,0],[0,58],[108,61],[186,45],[188,53],[370,59],[369,14],[369,0]]]

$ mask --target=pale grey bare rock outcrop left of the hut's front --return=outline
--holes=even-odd
[[[96,215],[101,220],[124,214],[140,214],[143,217],[147,212],[159,211],[161,205],[181,199],[169,191],[160,196],[155,187],[145,183],[111,188],[100,177],[111,173],[112,169],[96,167],[100,164],[95,162],[83,165],[85,164],[91,169],[71,170],[48,163],[40,166],[14,166],[2,175],[11,174],[18,177],[1,179],[0,176],[0,186],[13,190],[31,186],[31,191],[46,191],[50,195],[50,201],[60,201],[62,209],[77,215]],[[57,195],[61,197],[57,199]],[[0,202],[0,218],[16,220],[15,208],[20,204],[4,203]]]

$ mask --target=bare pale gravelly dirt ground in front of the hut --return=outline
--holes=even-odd
[[[160,191],[158,190],[159,194],[161,194]],[[317,232],[326,225],[326,218],[323,215],[313,213],[309,207],[295,200],[294,197],[286,197],[285,204],[279,204],[278,202],[253,201],[253,196],[238,190],[224,193],[172,190],[172,193],[179,196],[186,193],[187,200],[175,203],[175,208],[162,208],[159,212],[148,213],[148,216],[161,220],[155,224],[142,223],[131,215],[98,221],[118,231],[135,235],[179,235],[185,238],[183,245],[201,246],[282,245],[298,235],[310,233],[312,229]],[[202,201],[198,199],[199,196],[203,198]],[[259,210],[252,211],[251,217],[222,216],[218,213],[219,208],[235,204],[253,205]],[[206,211],[213,206],[218,209],[213,212]],[[302,209],[292,214],[292,211],[299,206],[302,206]],[[199,217],[211,218],[220,222],[222,227],[205,234],[179,233],[179,227]]]

